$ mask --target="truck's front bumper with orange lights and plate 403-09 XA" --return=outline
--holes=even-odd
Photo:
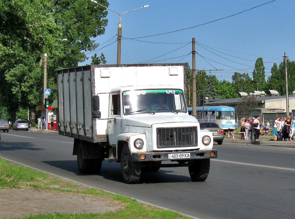
[[[169,152],[145,152],[132,153],[134,161],[177,161],[177,160],[199,160],[217,158],[217,150],[194,150],[194,151],[169,151]]]

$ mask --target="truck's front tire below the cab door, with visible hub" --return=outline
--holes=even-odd
[[[136,184],[140,180],[141,164],[132,160],[129,148],[125,145],[121,152],[121,172],[124,182]]]

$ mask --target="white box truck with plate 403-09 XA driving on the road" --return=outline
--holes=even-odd
[[[59,134],[74,138],[81,173],[99,173],[107,158],[128,184],[162,167],[207,178],[217,150],[188,114],[184,64],[79,66],[58,70],[57,80]]]

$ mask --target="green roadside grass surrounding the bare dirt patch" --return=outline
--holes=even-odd
[[[124,209],[104,214],[39,214],[24,218],[30,219],[189,219],[178,212],[163,210],[137,202],[135,199],[112,194],[101,189],[89,188],[58,177],[11,163],[0,158],[0,189],[52,189],[61,192],[74,192],[114,202],[123,203]]]

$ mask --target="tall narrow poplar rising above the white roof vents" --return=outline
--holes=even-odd
[[[255,69],[253,70],[253,88],[259,91],[266,89],[265,67],[261,57],[255,62]]]

